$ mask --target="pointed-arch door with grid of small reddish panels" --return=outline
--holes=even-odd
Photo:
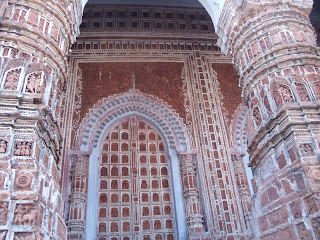
[[[99,240],[173,240],[173,196],[165,144],[132,116],[106,135],[99,166]]]

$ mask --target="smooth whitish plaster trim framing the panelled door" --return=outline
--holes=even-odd
[[[102,142],[105,138],[105,135],[114,127],[116,123],[121,122],[122,120],[129,118],[130,116],[138,116],[140,119],[146,121],[152,127],[157,129],[161,137],[165,136],[165,129],[161,128],[157,125],[154,119],[146,118],[139,113],[128,112],[122,116],[118,116],[112,119],[112,121],[108,122],[104,125],[104,129],[102,134],[100,134],[99,140],[97,142],[97,146],[101,146]],[[166,139],[166,138],[163,138]],[[180,171],[180,160],[178,157],[178,153],[175,148],[169,148],[168,139],[166,139],[165,144],[167,145],[166,149],[168,149],[168,167],[170,169],[171,175],[171,194],[173,196],[173,204],[174,204],[174,213],[175,213],[175,227],[177,230],[177,235],[179,240],[186,240],[188,231],[186,224],[186,215],[185,215],[185,207],[183,202],[183,189],[181,183],[181,171]],[[98,182],[99,182],[99,157],[100,157],[100,147],[95,147],[92,149],[89,158],[89,169],[88,169],[88,194],[87,194],[87,209],[86,209],[86,230],[85,230],[85,239],[92,240],[96,239],[97,236],[97,226],[98,226]]]

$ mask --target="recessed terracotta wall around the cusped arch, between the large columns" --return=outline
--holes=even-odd
[[[136,9],[87,9],[82,35],[70,55],[65,147],[71,151],[79,148],[79,126],[98,101],[115,94],[129,96],[133,87],[152,95],[183,119],[197,149],[198,188],[205,215],[205,231],[200,235],[203,239],[245,238],[249,226],[239,204],[229,155],[228,119],[241,101],[230,59],[219,52],[205,11],[146,7],[137,11],[138,17],[132,17],[136,14],[132,12]],[[159,31],[158,14],[164,17]],[[195,28],[183,25],[191,17],[194,20],[188,24]],[[138,26],[133,27],[132,22]]]

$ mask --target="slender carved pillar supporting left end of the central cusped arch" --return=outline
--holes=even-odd
[[[73,155],[71,161],[68,239],[84,239],[89,156]]]

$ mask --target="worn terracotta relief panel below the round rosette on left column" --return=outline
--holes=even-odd
[[[31,205],[19,204],[14,211],[15,225],[33,225],[35,224],[37,209]]]

